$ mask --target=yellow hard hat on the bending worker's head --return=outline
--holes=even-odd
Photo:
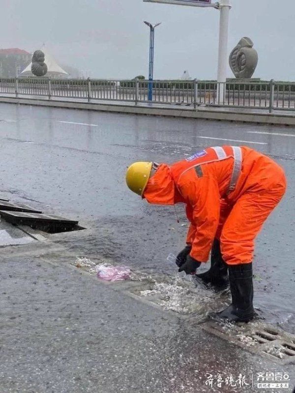
[[[126,183],[131,191],[143,196],[152,168],[152,162],[134,162],[126,172]]]

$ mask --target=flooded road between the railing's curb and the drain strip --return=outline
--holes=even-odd
[[[141,201],[125,185],[126,167],[224,144],[269,154],[284,167],[288,190],[256,242],[254,304],[266,322],[295,333],[294,129],[1,104],[0,143],[0,195],[95,228],[86,257],[159,276],[176,272],[167,256],[183,247],[184,209],[177,206],[177,224],[173,208]],[[72,247],[81,249],[79,240]]]

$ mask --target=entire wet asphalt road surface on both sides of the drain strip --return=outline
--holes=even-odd
[[[1,104],[0,195],[92,228],[54,238],[68,255],[52,243],[2,250],[2,391],[253,391],[212,390],[205,385],[210,372],[288,371],[294,381],[290,365],[270,365],[204,333],[193,320],[184,323],[69,269],[75,256],[102,255],[141,272],[174,273],[166,257],[183,245],[183,208],[177,207],[177,225],[173,209],[133,195],[124,183],[127,165],[173,162],[206,146],[247,145],[272,155],[289,180],[257,240],[255,305],[267,322],[295,332],[293,135],[289,128]]]

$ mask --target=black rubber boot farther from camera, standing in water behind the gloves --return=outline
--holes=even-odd
[[[212,245],[210,269],[205,273],[196,274],[196,276],[205,283],[211,283],[218,287],[229,285],[228,266],[222,258],[219,240],[214,239]]]

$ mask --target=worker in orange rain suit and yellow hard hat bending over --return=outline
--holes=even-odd
[[[190,227],[187,246],[177,256],[178,272],[195,274],[213,245],[216,266],[199,276],[206,282],[218,275],[223,280],[228,268],[232,304],[219,317],[251,320],[254,239],[285,193],[283,169],[248,147],[223,146],[172,165],[136,162],[126,182],[151,204],[186,204]]]

